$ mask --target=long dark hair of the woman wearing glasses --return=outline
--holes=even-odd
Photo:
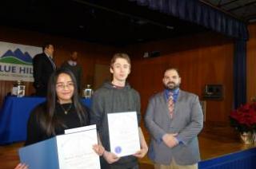
[[[72,103],[74,104],[75,112],[78,113],[80,124],[85,125],[88,122],[88,112],[86,112],[86,109],[82,106],[82,102],[78,96],[78,85],[74,74],[69,69],[58,69],[51,74],[50,80],[48,82],[46,108],[44,108],[45,110],[42,113],[38,114],[38,122],[41,124],[42,129],[45,130],[48,136],[55,136],[55,128],[58,125],[64,125],[61,124],[55,114],[55,107],[58,101],[58,97],[56,95],[56,84],[61,73],[69,75],[71,80],[74,82],[74,94],[72,96]]]

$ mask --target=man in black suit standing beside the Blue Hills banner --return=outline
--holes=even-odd
[[[35,96],[46,96],[47,83],[51,73],[56,70],[54,63],[54,45],[46,43],[42,47],[43,53],[33,58],[33,77]]]

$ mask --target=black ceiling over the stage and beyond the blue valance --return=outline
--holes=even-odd
[[[128,0],[2,1],[0,16],[4,26],[106,45],[125,46],[206,31],[202,26],[137,6],[135,2]],[[226,12],[231,9],[230,12],[234,12],[237,18],[247,22],[249,18],[253,18],[249,17],[253,15],[253,11],[250,10],[250,14],[238,13],[234,8],[249,6],[247,3],[255,8],[253,2],[256,1],[204,0],[204,2],[218,6]],[[228,2],[230,3],[227,4]],[[246,7],[246,12],[248,11]]]

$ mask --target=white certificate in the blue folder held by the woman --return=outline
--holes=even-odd
[[[98,143],[96,125],[74,128],[65,131],[57,140],[59,167],[69,168],[100,168],[99,157],[93,150]]]

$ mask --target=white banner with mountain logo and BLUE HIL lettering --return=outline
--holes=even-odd
[[[34,81],[32,59],[42,47],[0,41],[0,80]]]

